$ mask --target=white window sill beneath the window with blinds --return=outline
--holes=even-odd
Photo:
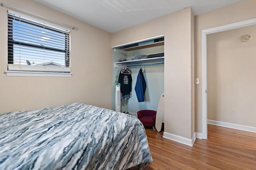
[[[27,77],[71,77],[72,73],[66,72],[32,72],[32,71],[5,71],[6,76],[27,76]]]

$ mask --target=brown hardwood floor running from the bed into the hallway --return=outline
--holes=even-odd
[[[146,129],[153,162],[143,170],[256,170],[256,133],[208,125],[208,140],[190,147]]]

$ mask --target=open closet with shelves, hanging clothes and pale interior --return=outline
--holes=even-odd
[[[113,110],[118,110],[116,103],[116,85],[118,73],[122,70],[131,80],[131,95],[121,94],[120,112],[137,116],[140,110],[158,110],[160,96],[164,93],[164,35],[133,41],[112,47],[113,52]],[[127,69],[127,70],[126,70]],[[129,75],[130,72],[130,75]],[[138,95],[138,77],[145,80],[144,95]],[[125,75],[124,74],[124,75]],[[124,78],[122,74],[121,78]],[[130,79],[131,77],[131,79]],[[130,83],[130,82],[129,82]],[[138,83],[137,83],[138,84]],[[137,89],[135,89],[137,88]],[[124,92],[121,90],[121,93]],[[162,115],[163,117],[163,115]]]

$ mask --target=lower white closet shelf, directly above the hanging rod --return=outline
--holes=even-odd
[[[133,64],[146,64],[146,63],[159,63],[164,62],[164,57],[154,57],[149,59],[121,61],[115,63],[115,68],[122,68],[122,65],[133,65]]]

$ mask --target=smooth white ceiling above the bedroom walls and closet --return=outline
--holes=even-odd
[[[191,6],[194,15],[243,0],[34,0],[110,33]],[[76,26],[76,25],[74,25]]]

